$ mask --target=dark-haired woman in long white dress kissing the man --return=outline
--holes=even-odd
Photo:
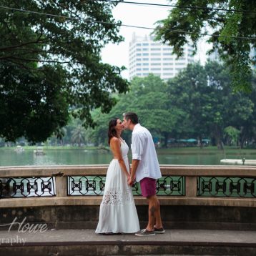
[[[96,233],[134,233],[139,230],[139,219],[134,204],[129,178],[129,147],[121,138],[124,125],[120,119],[109,122],[109,145],[113,159],[107,169],[104,195],[99,209],[99,223]]]

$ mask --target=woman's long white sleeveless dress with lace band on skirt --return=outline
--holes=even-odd
[[[121,142],[124,163],[129,172],[129,147]],[[127,184],[127,176],[117,159],[112,159],[107,169],[107,177],[102,203],[99,208],[99,223],[96,233],[133,233],[139,230],[139,219],[134,204],[132,188]]]

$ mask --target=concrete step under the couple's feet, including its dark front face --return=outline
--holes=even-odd
[[[1,255],[255,255],[256,232],[166,230],[154,237],[95,235],[94,230],[48,230],[44,233],[0,231],[0,239],[23,242],[0,245]]]

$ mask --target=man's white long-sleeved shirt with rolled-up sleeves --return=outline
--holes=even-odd
[[[162,177],[152,135],[147,128],[142,127],[140,124],[134,126],[131,148],[132,159],[139,160],[136,171],[137,182],[144,177],[152,179]]]

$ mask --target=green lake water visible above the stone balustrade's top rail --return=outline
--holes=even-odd
[[[0,149],[0,166],[19,166],[19,165],[69,165],[69,164],[109,164],[112,159],[110,152],[98,150],[45,150],[46,154],[36,156],[33,150],[24,150],[24,152],[15,152],[14,149]],[[195,150],[184,152],[157,152],[159,164],[206,164],[220,165],[220,159],[225,158],[222,151],[209,153]],[[234,153],[227,155],[227,158],[256,159],[256,154]],[[129,154],[131,161],[131,156]]]

